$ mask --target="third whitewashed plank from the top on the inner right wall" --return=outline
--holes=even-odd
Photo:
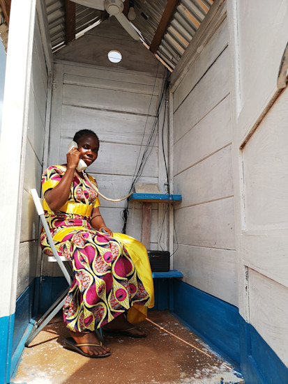
[[[232,141],[230,98],[220,102],[174,145],[174,174],[197,164]],[[178,130],[176,121],[175,130]]]

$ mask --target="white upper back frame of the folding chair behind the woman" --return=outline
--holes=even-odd
[[[71,283],[70,274],[69,274],[67,268],[63,264],[63,261],[68,261],[68,259],[66,259],[66,257],[64,257],[64,256],[59,256],[59,254],[56,250],[53,238],[52,238],[51,233],[50,233],[50,228],[49,228],[49,226],[46,222],[46,219],[45,219],[45,213],[43,210],[43,199],[40,199],[40,197],[38,196],[38,192],[36,191],[35,188],[31,189],[30,193],[33,197],[33,201],[34,201],[37,213],[38,213],[40,220],[43,224],[43,228],[45,230],[48,243],[52,249],[53,256],[47,256],[47,259],[48,259],[48,261],[56,261],[59,264],[59,267],[61,268],[63,275],[65,276],[68,284],[70,284]]]

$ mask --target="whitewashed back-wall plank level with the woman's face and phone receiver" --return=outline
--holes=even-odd
[[[69,139],[61,139],[59,163],[66,163],[66,153]],[[139,146],[102,143],[98,153],[98,159],[89,167],[89,172],[97,174],[133,175],[139,155]],[[144,166],[142,176],[157,177],[158,148],[151,148],[151,155]],[[142,158],[144,148],[141,148],[139,161]],[[88,171],[88,169],[87,169]],[[130,187],[130,185],[129,185]]]

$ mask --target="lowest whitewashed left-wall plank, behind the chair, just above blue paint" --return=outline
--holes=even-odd
[[[38,241],[25,241],[20,244],[17,275],[17,297],[36,276]]]

